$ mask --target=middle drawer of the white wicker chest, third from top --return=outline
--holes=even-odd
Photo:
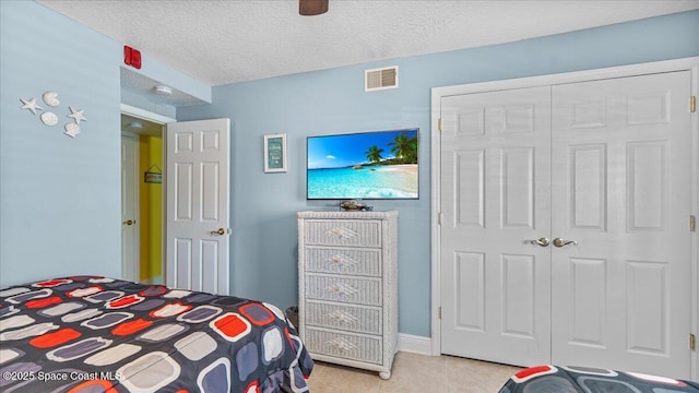
[[[380,278],[352,278],[324,274],[306,274],[306,298],[381,306]]]

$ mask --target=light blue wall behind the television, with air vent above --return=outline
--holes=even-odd
[[[699,11],[475,49],[381,61],[214,87],[212,105],[178,120],[232,119],[232,283],[237,296],[296,302],[295,212],[305,198],[306,136],[420,128],[420,200],[400,211],[400,326],[429,336],[430,88],[699,56]],[[400,88],[365,93],[364,70],[400,67]],[[287,133],[288,172],[263,172],[262,136]]]

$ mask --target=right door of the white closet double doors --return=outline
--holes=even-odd
[[[553,362],[690,376],[689,72],[553,87]]]

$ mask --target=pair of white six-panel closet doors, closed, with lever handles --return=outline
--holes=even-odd
[[[441,353],[690,377],[692,73],[609,75],[433,94]]]

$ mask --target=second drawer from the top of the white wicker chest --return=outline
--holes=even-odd
[[[307,272],[381,276],[378,249],[307,247],[305,255]]]

